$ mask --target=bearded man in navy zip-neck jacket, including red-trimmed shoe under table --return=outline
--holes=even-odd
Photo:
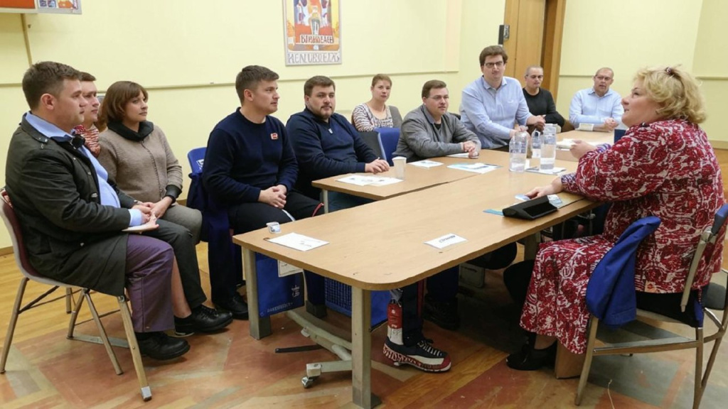
[[[298,186],[311,197],[319,192],[311,186],[312,180],[342,175],[344,173],[379,173],[389,170],[389,164],[376,157],[371,148],[359,137],[359,132],[344,116],[336,114],[336,84],[326,76],[314,76],[304,84],[306,108],[293,114],[286,123],[286,130],[293,143],[296,158],[301,165]],[[329,192],[329,210],[341,210],[368,202],[366,199],[347,194]],[[392,290],[394,302],[388,309],[397,309],[401,325],[389,322],[389,327],[401,327],[392,331],[384,341],[384,355],[393,362],[406,363],[427,372],[443,372],[450,369],[450,356],[431,345],[422,334],[422,318],[418,314],[419,294],[422,282]],[[387,314],[392,317],[392,314]],[[389,331],[388,331],[389,332]],[[395,335],[396,334],[396,335]]]

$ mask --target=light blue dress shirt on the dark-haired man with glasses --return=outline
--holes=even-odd
[[[525,125],[531,113],[517,79],[504,76],[495,89],[481,76],[462,90],[460,115],[480,146],[491,149],[506,146],[515,122]]]

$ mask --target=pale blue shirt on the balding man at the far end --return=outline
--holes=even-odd
[[[571,99],[569,106],[569,122],[574,127],[579,124],[604,124],[607,118],[613,118],[617,122],[622,121],[622,114],[625,108],[622,108],[622,97],[609,90],[603,97],[596,95],[594,88],[579,90]]]

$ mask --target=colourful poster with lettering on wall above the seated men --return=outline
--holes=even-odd
[[[285,65],[341,64],[340,0],[283,0]]]

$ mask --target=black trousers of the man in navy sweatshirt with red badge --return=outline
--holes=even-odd
[[[288,192],[285,207],[283,210],[290,213],[293,218],[303,219],[318,215],[322,212],[322,204],[314,199],[301,194],[296,190]],[[265,203],[241,203],[235,204],[228,209],[228,218],[234,234],[247,233],[262,229],[266,223],[277,221],[288,223],[290,218],[283,210],[272,207]],[[230,269],[221,271],[225,274],[214,274],[210,271],[210,284],[212,286],[213,301],[227,300],[235,293],[235,274]],[[310,271],[304,271],[306,279],[306,293],[311,303],[321,305],[324,303],[324,282],[323,277]]]

